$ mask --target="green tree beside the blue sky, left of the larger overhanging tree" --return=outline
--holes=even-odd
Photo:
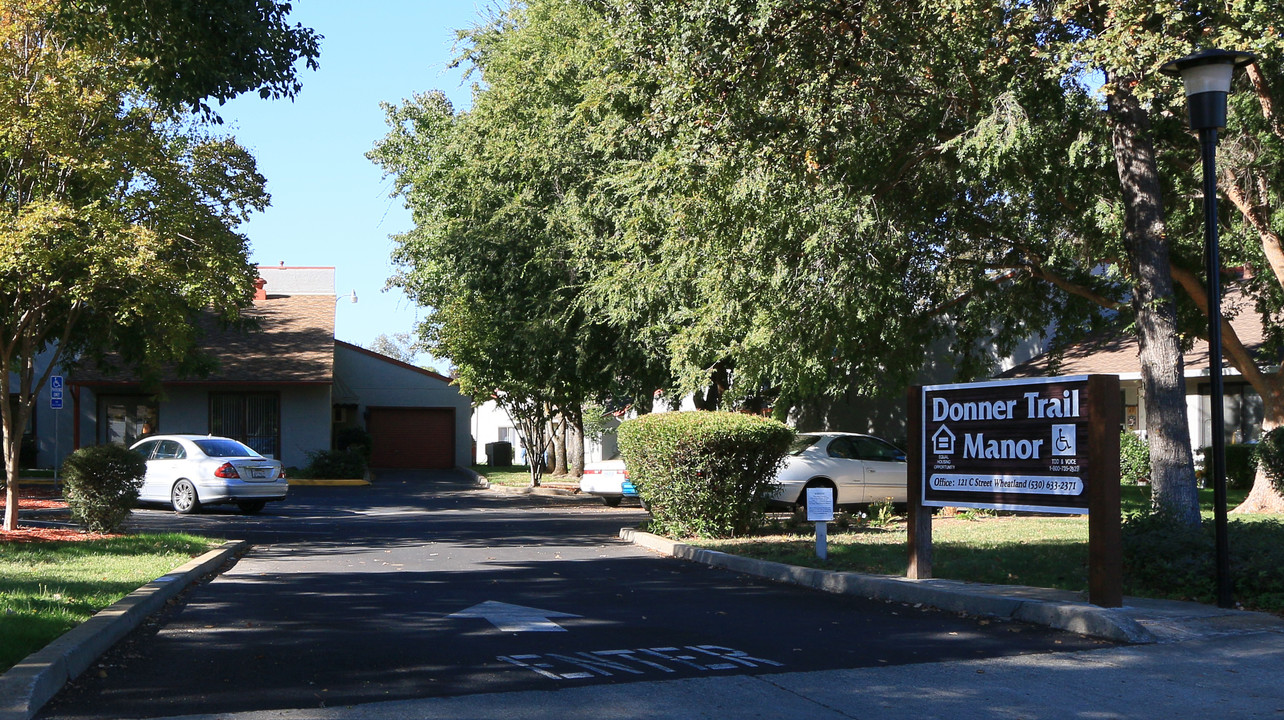
[[[606,167],[589,118],[603,63],[601,17],[575,3],[498,13],[461,36],[478,77],[473,107],[440,94],[385,107],[389,135],[370,158],[395,177],[415,228],[398,235],[392,282],[429,308],[425,344],[461,389],[514,416],[532,458],[555,413],[582,426],[587,400],[650,391],[648,356],[586,312],[575,253],[603,232],[578,212]],[[523,430],[525,429],[525,430]],[[532,481],[542,468],[532,461]]]

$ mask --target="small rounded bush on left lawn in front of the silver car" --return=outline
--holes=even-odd
[[[63,495],[72,520],[94,533],[116,533],[139,501],[146,462],[123,445],[81,448],[63,461]]]

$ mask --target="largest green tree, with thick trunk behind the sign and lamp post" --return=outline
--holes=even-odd
[[[904,381],[941,331],[969,375],[978,339],[1002,352],[1115,318],[1141,339],[1156,501],[1198,522],[1180,352],[1197,308],[1172,287],[1198,267],[1180,232],[1195,186],[1180,90],[1156,68],[1201,44],[1278,55],[1275,9],[605,5],[668,146],[624,210],[661,222],[618,245],[656,282],[602,275],[603,307],[668,321],[693,375],[713,352],[802,394]]]

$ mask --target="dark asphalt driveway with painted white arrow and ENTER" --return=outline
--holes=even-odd
[[[297,488],[258,516],[135,513],[254,548],[42,717],[155,717],[1103,647],[1022,624],[777,585],[615,539],[646,515],[455,472]]]

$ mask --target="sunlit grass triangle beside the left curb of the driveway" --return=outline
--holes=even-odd
[[[220,544],[181,534],[0,543],[0,673]]]

